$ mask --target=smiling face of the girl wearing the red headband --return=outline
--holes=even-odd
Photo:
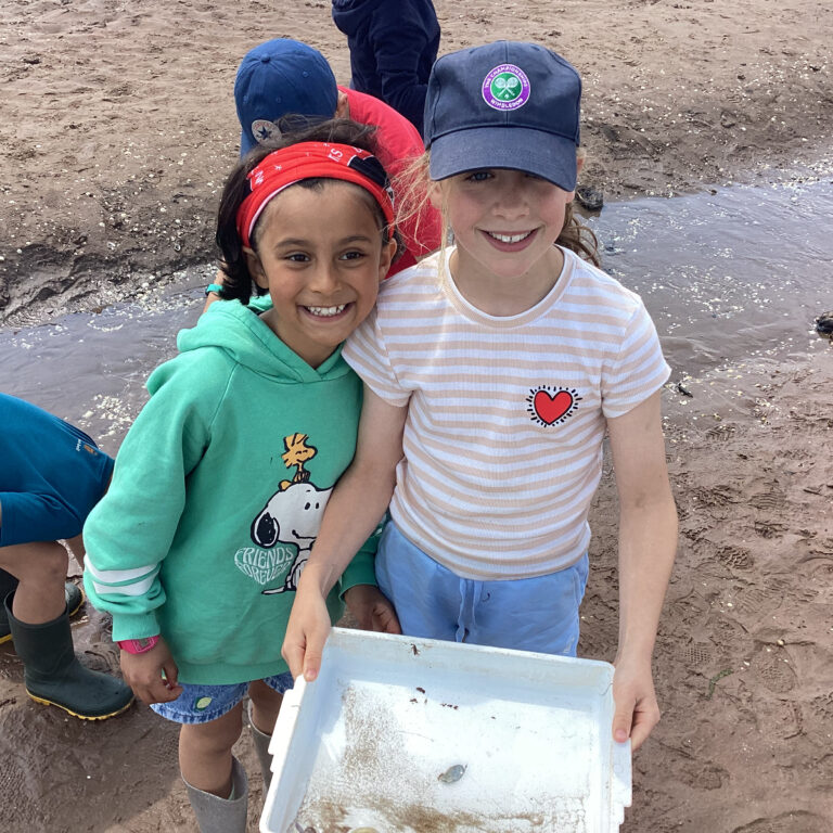
[[[374,198],[338,180],[291,185],[257,221],[246,262],[272,300],[261,319],[313,368],[376,303],[396,252],[383,226]]]

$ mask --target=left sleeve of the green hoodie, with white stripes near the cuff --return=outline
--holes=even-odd
[[[84,527],[84,586],[113,616],[113,639],[159,633],[165,604],[158,574],[185,503],[185,478],[210,443],[222,398],[183,354],[151,375],[151,399],[125,437],[107,494]],[[216,376],[215,376],[216,377]]]

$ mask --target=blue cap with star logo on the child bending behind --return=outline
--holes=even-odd
[[[242,133],[240,155],[280,130],[287,115],[306,120],[332,118],[338,87],[326,59],[298,40],[267,40],[246,53],[234,80],[234,103]]]

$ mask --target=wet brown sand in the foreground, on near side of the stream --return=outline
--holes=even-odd
[[[832,385],[824,348],[732,364],[664,393],[681,535],[655,652],[664,715],[635,758],[623,833],[830,830]],[[579,644],[579,655],[606,661],[617,636],[615,517],[607,462]],[[89,605],[84,614],[74,625],[84,661],[116,668],[106,624]],[[251,776],[254,831],[262,787],[245,732],[236,753]],[[8,833],[195,831],[176,727],[141,705],[102,723],[37,706],[8,645],[0,786]]]

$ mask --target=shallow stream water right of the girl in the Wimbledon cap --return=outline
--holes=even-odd
[[[833,308],[833,182],[623,203],[592,228],[675,376],[824,347],[813,322]]]

